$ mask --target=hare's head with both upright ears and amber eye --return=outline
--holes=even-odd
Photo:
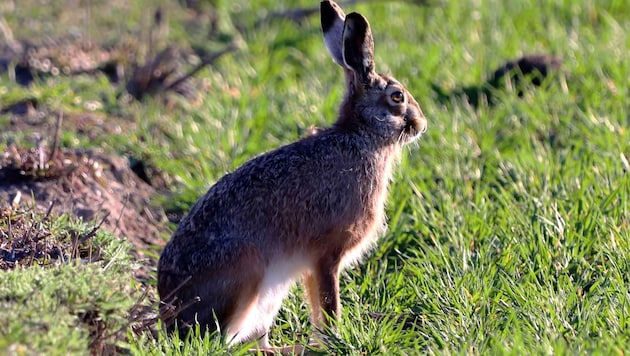
[[[367,130],[387,143],[417,139],[426,131],[424,114],[402,84],[374,70],[374,40],[365,17],[346,16],[333,1],[322,1],[321,17],[326,47],[348,86],[337,125]]]

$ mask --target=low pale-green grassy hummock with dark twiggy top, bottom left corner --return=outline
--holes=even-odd
[[[20,258],[0,273],[0,350],[82,354],[92,340],[102,345],[94,350],[113,350],[121,341],[115,331],[126,330],[126,311],[142,291],[139,283],[129,283],[138,263],[129,243],[102,230],[92,236],[93,226],[67,215],[52,219],[31,209],[3,211],[0,226],[7,225],[13,227],[2,235],[6,250],[18,240],[28,243],[28,234],[55,247],[37,249],[49,254]]]

